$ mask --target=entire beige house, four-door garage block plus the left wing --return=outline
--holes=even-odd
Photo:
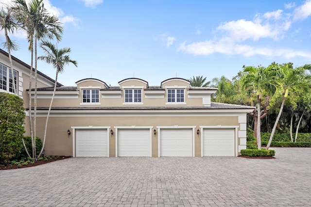
[[[8,63],[7,53],[0,51],[0,64],[9,68]],[[13,64],[18,95],[28,108],[30,66],[16,58]],[[42,73],[38,77],[36,134],[43,138],[53,80]],[[254,107],[211,102],[216,91],[190,87],[188,80],[180,78],[164,80],[159,86],[149,86],[137,78],[121,80],[119,86],[113,87],[97,79],[79,80],[76,86],[58,84],[45,154],[238,156],[246,148],[246,114]],[[25,129],[29,135],[27,120]]]

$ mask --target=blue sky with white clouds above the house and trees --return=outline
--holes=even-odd
[[[8,2],[8,0],[0,0]],[[44,0],[63,22],[58,48],[72,49],[78,67],[58,81],[85,78],[118,85],[139,78],[232,79],[243,65],[311,64],[311,0]],[[3,42],[3,32],[0,33]],[[30,64],[23,33],[13,55]],[[42,51],[38,50],[42,55]],[[38,70],[55,77],[52,65]]]

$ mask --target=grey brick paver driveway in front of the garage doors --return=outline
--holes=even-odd
[[[276,159],[70,158],[0,171],[0,206],[311,206],[311,148]]]

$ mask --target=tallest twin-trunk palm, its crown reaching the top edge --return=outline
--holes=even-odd
[[[34,58],[34,44],[35,44],[35,103],[34,103],[34,132],[32,130],[31,117],[31,93],[29,93],[29,118],[30,131],[32,137],[33,158],[35,157],[35,138],[36,137],[36,101],[37,101],[37,40],[42,38],[56,37],[57,41],[61,40],[63,28],[60,26],[56,16],[51,16],[44,8],[43,0],[32,0],[27,4],[25,0],[15,0],[15,18],[20,27],[27,32],[28,41],[31,50],[31,74],[29,81],[29,91],[32,90],[32,70]]]

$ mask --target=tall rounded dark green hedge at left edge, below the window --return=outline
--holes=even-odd
[[[23,100],[16,95],[0,93],[0,162],[7,162],[20,148],[25,132]]]

